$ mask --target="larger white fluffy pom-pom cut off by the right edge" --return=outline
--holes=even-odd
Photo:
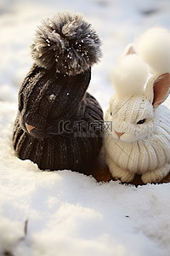
[[[170,73],[170,32],[167,29],[150,28],[136,39],[135,48],[152,73]]]

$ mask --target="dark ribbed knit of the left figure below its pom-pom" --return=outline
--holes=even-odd
[[[20,89],[14,124],[14,149],[20,159],[32,160],[41,169],[88,172],[102,145],[101,126],[89,131],[94,137],[74,137],[77,129],[71,125],[103,119],[99,103],[86,93],[89,79],[90,69],[76,77],[60,74],[56,79],[55,74],[32,67]],[[71,120],[69,128],[74,132],[59,134],[61,120]],[[31,135],[26,123],[36,127]],[[82,129],[86,131],[83,125]]]

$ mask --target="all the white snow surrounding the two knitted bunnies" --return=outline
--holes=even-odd
[[[103,41],[89,91],[104,110],[113,93],[111,69],[124,47],[150,26],[170,26],[169,0],[1,0],[0,255],[168,256],[169,183],[97,183],[71,171],[41,172],[14,155],[17,92],[32,63],[29,44],[40,20],[62,10],[81,12]]]

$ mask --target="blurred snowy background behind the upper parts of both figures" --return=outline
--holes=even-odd
[[[81,13],[102,40],[103,57],[88,91],[107,107],[114,90],[111,70],[127,44],[151,26],[170,28],[169,0],[1,0],[0,101],[17,103],[32,65],[30,44],[41,20],[58,12]]]

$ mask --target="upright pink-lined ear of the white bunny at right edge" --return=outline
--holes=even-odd
[[[156,108],[167,99],[170,90],[170,73],[161,74],[153,84],[153,107]]]

